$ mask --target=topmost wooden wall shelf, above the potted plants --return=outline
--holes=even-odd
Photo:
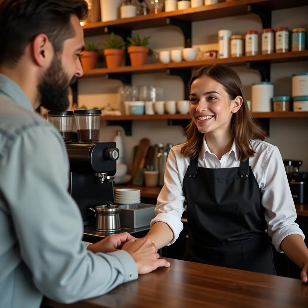
[[[248,5],[257,4],[262,10],[281,10],[308,5],[306,0],[237,0],[218,4],[199,6],[185,10],[148,14],[133,18],[117,19],[110,22],[95,22],[83,26],[84,35],[99,35],[105,33],[106,27],[136,30],[168,25],[168,19],[183,21],[200,21],[249,14]]]

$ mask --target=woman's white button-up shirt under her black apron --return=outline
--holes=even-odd
[[[291,195],[286,170],[279,149],[265,141],[252,140],[253,150],[257,152],[249,158],[249,165],[262,192],[262,205],[265,208],[267,232],[277,251],[282,252],[280,244],[290,234],[299,234],[305,238],[296,220],[296,209]],[[180,154],[182,145],[171,148],[164,174],[164,186],[157,198],[156,217],[150,226],[158,221],[166,223],[173,231],[171,245],[179,237],[183,229],[181,217],[184,212],[185,196],[183,180],[190,159]],[[199,154],[198,166],[203,168],[233,168],[239,167],[235,143],[231,150],[221,157],[221,160],[209,150],[204,139]]]

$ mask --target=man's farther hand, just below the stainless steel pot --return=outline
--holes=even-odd
[[[92,251],[93,253],[98,253],[98,252],[108,253],[116,251],[118,249],[122,249],[122,246],[127,241],[133,241],[133,240],[135,240],[135,237],[132,237],[127,232],[120,234],[113,234],[104,238],[102,241],[89,245],[87,249]]]

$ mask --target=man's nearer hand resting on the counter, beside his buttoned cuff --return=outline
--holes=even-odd
[[[138,274],[148,274],[158,267],[169,267],[170,263],[160,259],[155,245],[148,238],[135,239],[126,242],[122,250],[127,251],[135,260]]]

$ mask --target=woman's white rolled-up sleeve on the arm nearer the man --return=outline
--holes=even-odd
[[[173,239],[168,245],[173,244],[183,230],[181,217],[184,212],[184,202],[185,197],[180,181],[176,155],[173,148],[171,148],[164,173],[164,186],[157,198],[156,217],[150,223],[150,227],[159,221],[164,222],[170,227],[173,232]]]

